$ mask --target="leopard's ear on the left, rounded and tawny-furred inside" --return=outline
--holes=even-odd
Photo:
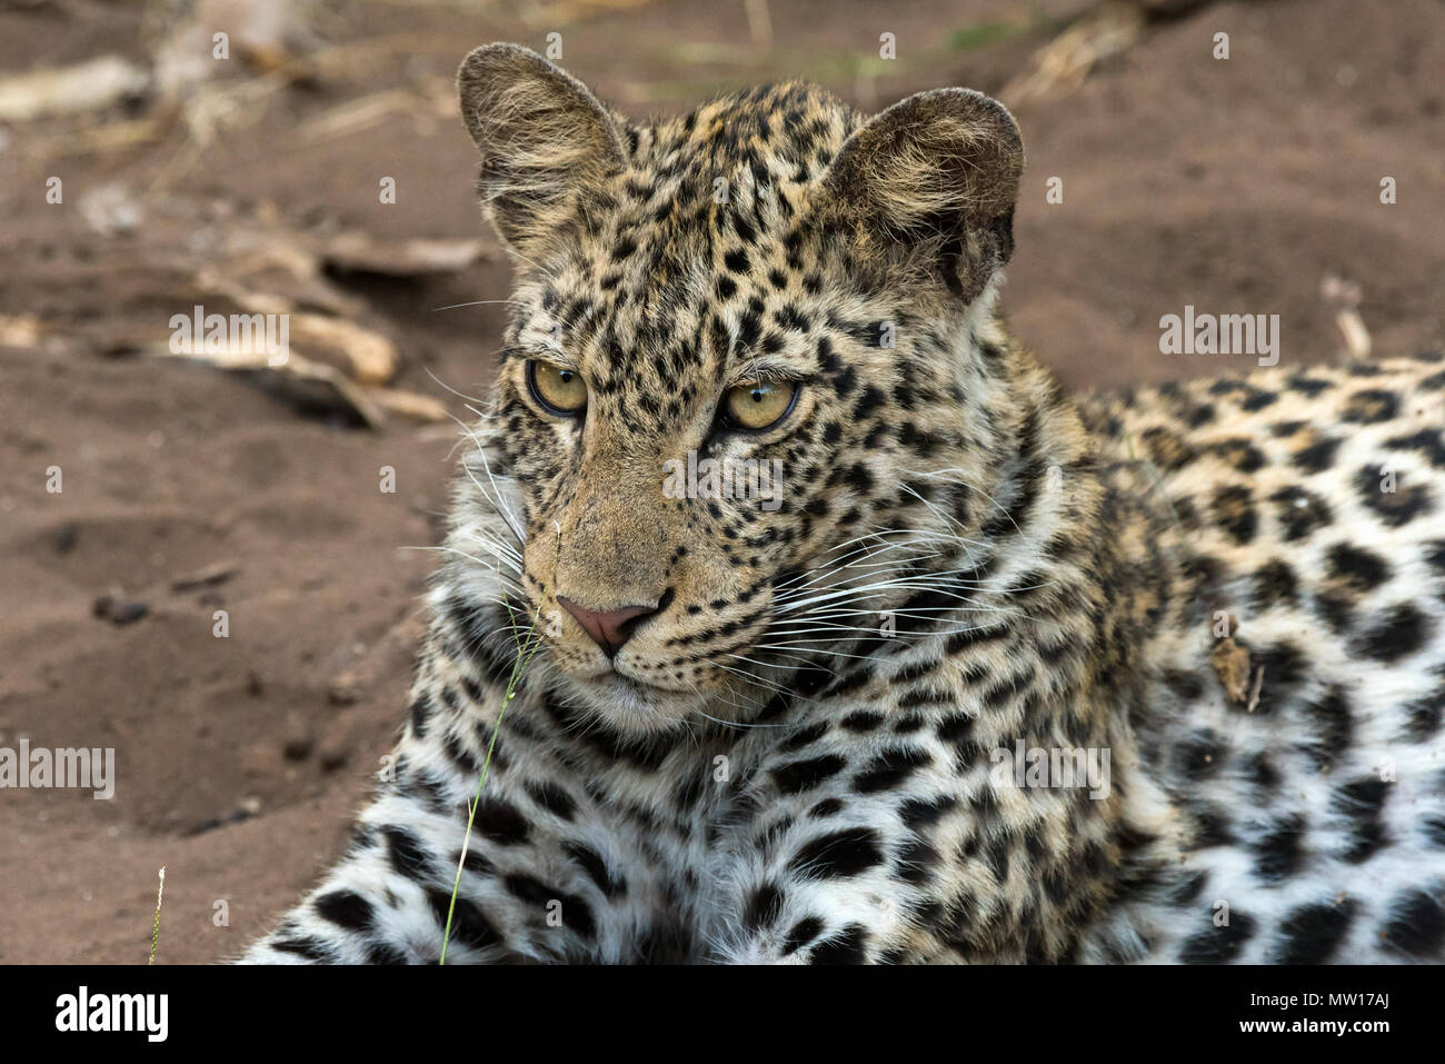
[[[571,194],[624,165],[618,120],[561,66],[520,45],[484,45],[457,72],[481,150],[483,208],[517,250],[553,231]]]

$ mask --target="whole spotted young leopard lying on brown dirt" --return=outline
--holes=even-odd
[[[493,392],[390,768],[240,960],[1445,957],[1439,353],[1066,393],[972,90],[458,94]]]

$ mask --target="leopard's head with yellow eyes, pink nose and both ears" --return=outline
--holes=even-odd
[[[454,572],[614,727],[747,718],[981,520],[1017,127],[803,84],[634,123],[514,45],[458,84],[514,288]]]

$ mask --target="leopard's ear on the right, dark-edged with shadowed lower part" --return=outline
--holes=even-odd
[[[819,189],[868,247],[920,262],[972,302],[1013,254],[1023,139],[1007,108],[968,88],[919,93],[844,143]]]

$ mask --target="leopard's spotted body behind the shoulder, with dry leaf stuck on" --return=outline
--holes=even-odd
[[[1445,361],[1090,400],[1168,512],[1188,612],[1143,758],[1192,841],[1152,958],[1445,948]]]

